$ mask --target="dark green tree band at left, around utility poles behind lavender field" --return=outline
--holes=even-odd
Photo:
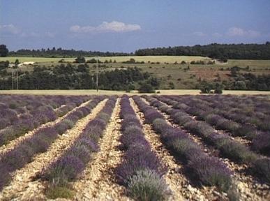
[[[1,73],[0,89],[11,89],[10,73]],[[99,89],[133,90],[137,82],[148,82],[153,87],[159,83],[149,73],[140,68],[115,69],[103,71],[98,75]],[[87,64],[78,66],[61,64],[54,68],[36,66],[33,71],[19,72],[20,89],[96,89],[96,75],[89,73]]]

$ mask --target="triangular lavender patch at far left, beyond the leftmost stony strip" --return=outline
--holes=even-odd
[[[87,100],[88,96],[0,96],[0,146]]]

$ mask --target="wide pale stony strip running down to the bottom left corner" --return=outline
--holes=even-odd
[[[104,107],[106,101],[107,99],[98,103],[91,114],[77,121],[73,128],[60,135],[45,153],[38,154],[33,158],[33,162],[17,170],[10,185],[3,188],[0,200],[11,200],[12,198],[13,200],[45,200],[43,182],[31,180],[70,147],[70,144],[80,135],[89,121],[96,117]]]

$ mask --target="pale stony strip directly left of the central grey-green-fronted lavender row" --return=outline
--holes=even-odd
[[[118,149],[121,136],[119,112],[118,99],[110,123],[98,143],[100,151],[93,156],[94,160],[73,184],[77,191],[75,200],[130,200],[125,196],[125,188],[119,186],[114,177],[114,170],[123,156],[123,151]]]

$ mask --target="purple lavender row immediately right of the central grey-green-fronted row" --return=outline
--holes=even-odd
[[[134,96],[133,99],[144,112],[146,121],[160,134],[167,148],[171,149],[178,159],[184,158],[186,169],[191,177],[197,178],[200,184],[216,186],[220,191],[228,191],[232,183],[232,173],[224,163],[216,157],[205,154],[202,147],[187,133],[167,124],[163,114],[144,103],[139,96]]]

